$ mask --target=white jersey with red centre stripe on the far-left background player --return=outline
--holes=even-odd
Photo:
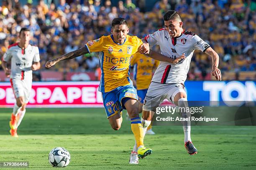
[[[32,79],[31,66],[33,62],[39,62],[39,49],[34,45],[28,45],[24,50],[18,46],[18,43],[12,44],[3,55],[3,60],[8,62],[11,60],[12,79]]]

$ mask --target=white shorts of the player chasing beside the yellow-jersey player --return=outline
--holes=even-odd
[[[156,108],[161,105],[164,99],[174,103],[174,97],[178,92],[186,93],[183,84],[161,84],[157,82],[151,82],[144,99],[143,110],[155,112]]]

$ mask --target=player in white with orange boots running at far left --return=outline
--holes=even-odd
[[[38,47],[29,44],[30,30],[21,28],[20,41],[8,47],[2,57],[2,67],[5,75],[10,77],[11,87],[16,98],[10,119],[10,134],[18,137],[17,128],[26,112],[26,105],[32,88],[32,70],[40,68]],[[11,62],[11,68],[7,63]]]

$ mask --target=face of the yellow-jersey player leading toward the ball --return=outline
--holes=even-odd
[[[115,25],[111,28],[111,34],[113,34],[115,42],[118,44],[123,44],[127,34],[129,33],[129,28],[127,25]]]

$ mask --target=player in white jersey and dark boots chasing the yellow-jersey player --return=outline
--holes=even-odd
[[[187,78],[194,50],[201,50],[212,57],[212,75],[216,77],[216,80],[221,80],[221,73],[218,69],[218,54],[198,35],[188,30],[183,30],[182,19],[176,11],[170,10],[164,14],[164,26],[166,29],[162,28],[143,39],[143,42],[148,44],[143,44],[141,51],[149,50],[149,45],[157,44],[160,46],[161,54],[163,55],[176,58],[184,54],[186,58],[176,65],[160,62],[157,67],[144,100],[143,117],[141,119],[144,132],[146,132],[151,123],[151,117],[156,107],[159,107],[164,99],[179,107],[188,107],[184,82]],[[182,113],[182,117],[187,116],[189,116],[189,113]],[[197,153],[197,149],[190,138],[190,122],[184,121],[182,125],[185,148],[190,155],[193,155]]]

